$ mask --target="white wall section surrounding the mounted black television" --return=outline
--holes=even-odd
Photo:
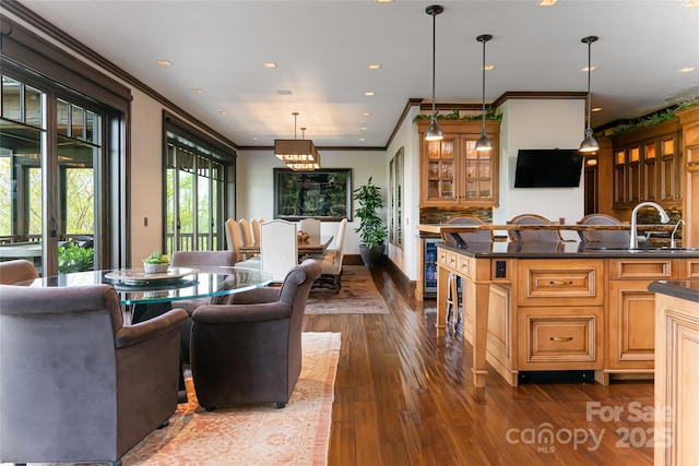
[[[553,222],[576,223],[584,215],[584,188],[514,188],[520,148],[577,148],[584,136],[584,99],[510,99],[501,106],[500,205],[493,223],[519,214],[538,214]],[[581,178],[582,180],[582,178]],[[564,235],[576,239],[577,235]]]

